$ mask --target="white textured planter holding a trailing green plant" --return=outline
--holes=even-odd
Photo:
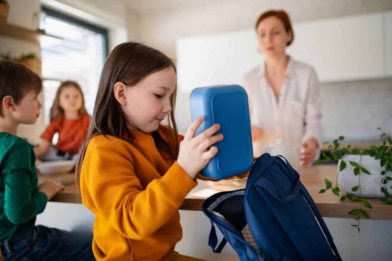
[[[381,171],[385,170],[385,167],[380,166],[381,160],[375,160],[374,157],[368,155],[361,156],[361,166],[370,172],[370,175],[360,172],[359,175],[354,175],[354,167],[351,166],[349,161],[353,161],[359,164],[360,155],[347,155],[343,158],[346,162],[346,167],[343,171],[340,171],[338,176],[339,189],[345,193],[353,193],[359,196],[358,191],[351,191],[354,186],[361,187],[361,194],[365,198],[383,198],[384,193],[380,191],[381,179],[384,177],[381,175]],[[338,171],[341,160],[339,160]],[[385,175],[392,176],[391,172],[386,172]],[[359,179],[359,176],[361,178]],[[360,182],[360,183],[359,183]],[[392,182],[388,182],[387,188],[390,188]],[[390,189],[389,189],[390,190]]]

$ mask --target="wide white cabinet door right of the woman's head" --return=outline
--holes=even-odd
[[[321,82],[384,76],[383,13],[298,23],[294,35],[287,52],[314,66]]]

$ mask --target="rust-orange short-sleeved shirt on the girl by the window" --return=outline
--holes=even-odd
[[[68,153],[77,153],[86,139],[90,120],[90,115],[83,115],[76,120],[67,120],[65,117],[61,117],[58,120],[51,121],[42,133],[41,138],[52,143],[54,133],[58,132],[56,149]]]

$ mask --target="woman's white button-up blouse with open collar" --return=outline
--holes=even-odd
[[[262,151],[262,146],[274,144],[277,138],[285,144],[301,145],[311,137],[321,147],[320,87],[313,67],[290,58],[278,99],[265,76],[264,63],[245,74],[243,87],[248,94],[251,124],[264,130],[254,147]]]

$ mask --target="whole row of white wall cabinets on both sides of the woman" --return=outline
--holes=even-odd
[[[392,75],[392,12],[294,23],[287,53],[316,68],[320,82]],[[241,83],[263,61],[253,29],[177,41],[178,86]],[[389,77],[388,76],[388,77]]]

